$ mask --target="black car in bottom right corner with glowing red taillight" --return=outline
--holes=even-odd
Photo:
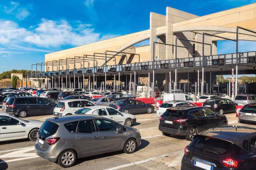
[[[256,128],[223,126],[196,135],[185,147],[181,170],[256,169]]]

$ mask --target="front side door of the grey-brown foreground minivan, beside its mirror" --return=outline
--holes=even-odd
[[[116,132],[116,128],[122,129],[122,127],[106,119],[95,119],[95,121],[102,139],[102,151],[112,152],[122,150],[124,146],[124,132]]]

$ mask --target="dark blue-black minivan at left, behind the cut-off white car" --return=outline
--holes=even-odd
[[[41,97],[12,97],[5,113],[27,117],[28,115],[52,114],[55,103]]]

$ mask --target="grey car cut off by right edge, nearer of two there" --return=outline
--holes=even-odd
[[[244,105],[238,113],[240,123],[256,122],[256,103]]]

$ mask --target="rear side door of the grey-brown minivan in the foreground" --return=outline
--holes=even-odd
[[[96,130],[94,121],[81,120],[78,122],[76,131],[76,146],[82,157],[98,154],[102,152],[102,138]]]

